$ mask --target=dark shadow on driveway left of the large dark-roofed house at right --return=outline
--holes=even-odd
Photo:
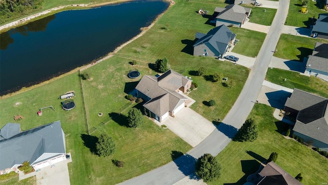
[[[287,98],[291,97],[292,94],[284,90],[277,90],[270,93],[265,93],[265,95],[268,97],[270,106],[283,109]]]

